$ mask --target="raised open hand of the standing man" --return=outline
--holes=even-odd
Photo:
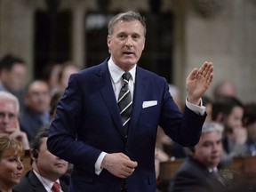
[[[198,105],[200,98],[212,83],[212,62],[204,61],[201,68],[194,68],[187,77],[188,102]]]

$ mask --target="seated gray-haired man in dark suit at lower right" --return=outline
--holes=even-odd
[[[174,191],[224,191],[224,180],[212,174],[218,171],[222,154],[221,124],[205,122],[202,135],[195,148],[190,148],[188,157],[173,176],[170,192]]]

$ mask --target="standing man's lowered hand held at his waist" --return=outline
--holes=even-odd
[[[113,153],[104,157],[101,166],[116,177],[125,179],[134,172],[138,163],[123,153]]]

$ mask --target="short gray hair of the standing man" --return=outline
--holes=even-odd
[[[116,25],[116,22],[119,20],[124,20],[124,21],[132,21],[132,20],[139,20],[143,29],[144,29],[144,36],[146,36],[146,23],[145,23],[145,18],[141,17],[139,12],[121,12],[114,16],[108,23],[108,35],[113,34],[114,26]]]

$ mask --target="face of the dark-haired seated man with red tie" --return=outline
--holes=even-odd
[[[36,165],[38,172],[47,179],[56,180],[68,170],[68,162],[52,155],[46,146],[47,138],[43,138],[43,143],[38,152]]]

